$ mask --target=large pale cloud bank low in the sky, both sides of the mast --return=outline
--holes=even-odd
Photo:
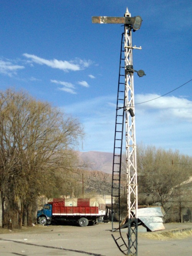
[[[156,96],[135,95],[135,102],[151,100]],[[179,149],[182,153],[191,155],[192,101],[167,96],[136,105],[135,108],[136,143],[143,142],[166,150]],[[86,150],[113,152],[116,95],[79,101],[78,104],[65,106],[64,109],[77,115],[83,124]]]

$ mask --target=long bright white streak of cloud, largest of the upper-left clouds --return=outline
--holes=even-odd
[[[56,59],[46,60],[44,58],[40,58],[36,55],[28,54],[28,53],[24,53],[23,56],[25,56],[26,58],[29,58],[33,63],[46,65],[46,66],[49,66],[50,68],[57,68],[65,72],[68,72],[69,70],[70,71],[82,70],[91,64],[91,61],[81,60],[78,58],[68,62],[66,60],[56,60]]]

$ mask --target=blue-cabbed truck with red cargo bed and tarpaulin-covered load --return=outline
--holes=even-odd
[[[70,221],[85,227],[97,221],[102,222],[105,208],[105,200],[101,197],[53,198],[37,211],[37,222],[44,226],[56,221]]]

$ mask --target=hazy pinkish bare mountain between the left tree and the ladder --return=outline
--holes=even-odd
[[[88,164],[87,170],[103,171],[112,174],[113,153],[88,151],[78,152],[79,158]]]

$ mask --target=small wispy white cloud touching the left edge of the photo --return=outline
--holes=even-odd
[[[0,60],[0,73],[12,76],[17,74],[17,70],[25,68],[24,66],[14,65],[11,61]]]

